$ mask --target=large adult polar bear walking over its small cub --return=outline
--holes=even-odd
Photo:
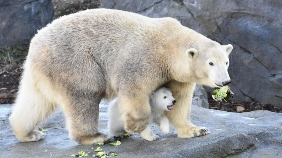
[[[177,20],[131,12],[91,9],[60,17],[33,37],[10,117],[22,141],[38,141],[36,130],[60,106],[70,138],[81,144],[107,140],[98,132],[99,103],[118,96],[128,132],[149,123],[149,94],[172,90],[175,109],[167,112],[180,138],[201,136],[190,121],[195,84],[230,81],[222,46]]]

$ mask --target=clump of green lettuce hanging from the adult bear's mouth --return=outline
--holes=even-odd
[[[216,89],[213,91],[212,98],[217,102],[227,102],[225,99],[227,99],[227,97],[233,97],[233,94],[234,93],[230,91],[229,86],[222,86],[220,89]]]

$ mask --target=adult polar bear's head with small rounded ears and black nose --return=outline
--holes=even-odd
[[[231,82],[227,69],[229,67],[228,55],[232,51],[231,44],[220,45],[211,42],[197,49],[190,48],[186,56],[190,62],[190,70],[199,84],[221,87]]]

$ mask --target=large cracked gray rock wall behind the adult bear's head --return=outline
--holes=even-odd
[[[282,107],[282,1],[103,0],[100,7],[174,17],[212,40],[231,43],[234,100]]]

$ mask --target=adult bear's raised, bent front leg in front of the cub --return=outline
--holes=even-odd
[[[120,93],[118,106],[123,113],[124,128],[128,133],[141,133],[149,125],[151,112],[149,95],[137,92],[134,95]]]

